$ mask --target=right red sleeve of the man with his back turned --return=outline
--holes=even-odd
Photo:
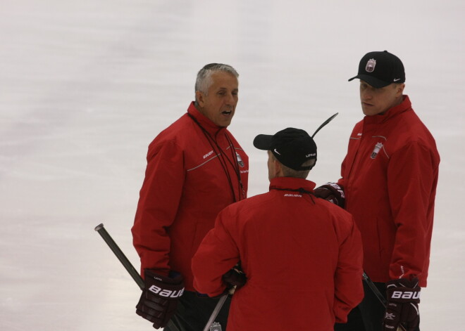
[[[341,239],[335,272],[333,311],[336,323],[347,323],[349,312],[364,298],[361,235],[353,219],[349,231],[345,233],[345,238]]]

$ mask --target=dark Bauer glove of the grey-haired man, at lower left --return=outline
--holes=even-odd
[[[145,288],[142,290],[136,313],[154,327],[164,327],[176,310],[178,299],[184,292],[180,273],[170,272],[169,277],[155,273],[156,269],[144,269]]]

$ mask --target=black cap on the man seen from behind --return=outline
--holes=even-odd
[[[294,170],[309,170],[302,164],[308,160],[316,162],[316,143],[306,131],[287,128],[274,135],[259,134],[254,139],[254,146],[259,150],[271,150],[279,162]]]

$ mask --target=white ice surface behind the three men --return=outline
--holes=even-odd
[[[0,330],[153,330],[140,290],[94,227],[139,269],[130,228],[147,145],[186,110],[206,63],[240,72],[230,131],[268,190],[256,134],[316,136],[309,179],[339,178],[362,118],[361,56],[402,59],[413,107],[441,155],[421,330],[463,330],[462,0],[0,2]],[[373,188],[376,190],[376,188]]]

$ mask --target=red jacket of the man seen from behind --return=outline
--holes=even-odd
[[[333,330],[363,298],[361,239],[345,210],[306,193],[304,179],[224,209],[192,259],[194,286],[210,297],[238,261],[247,283],[233,295],[228,331]]]

